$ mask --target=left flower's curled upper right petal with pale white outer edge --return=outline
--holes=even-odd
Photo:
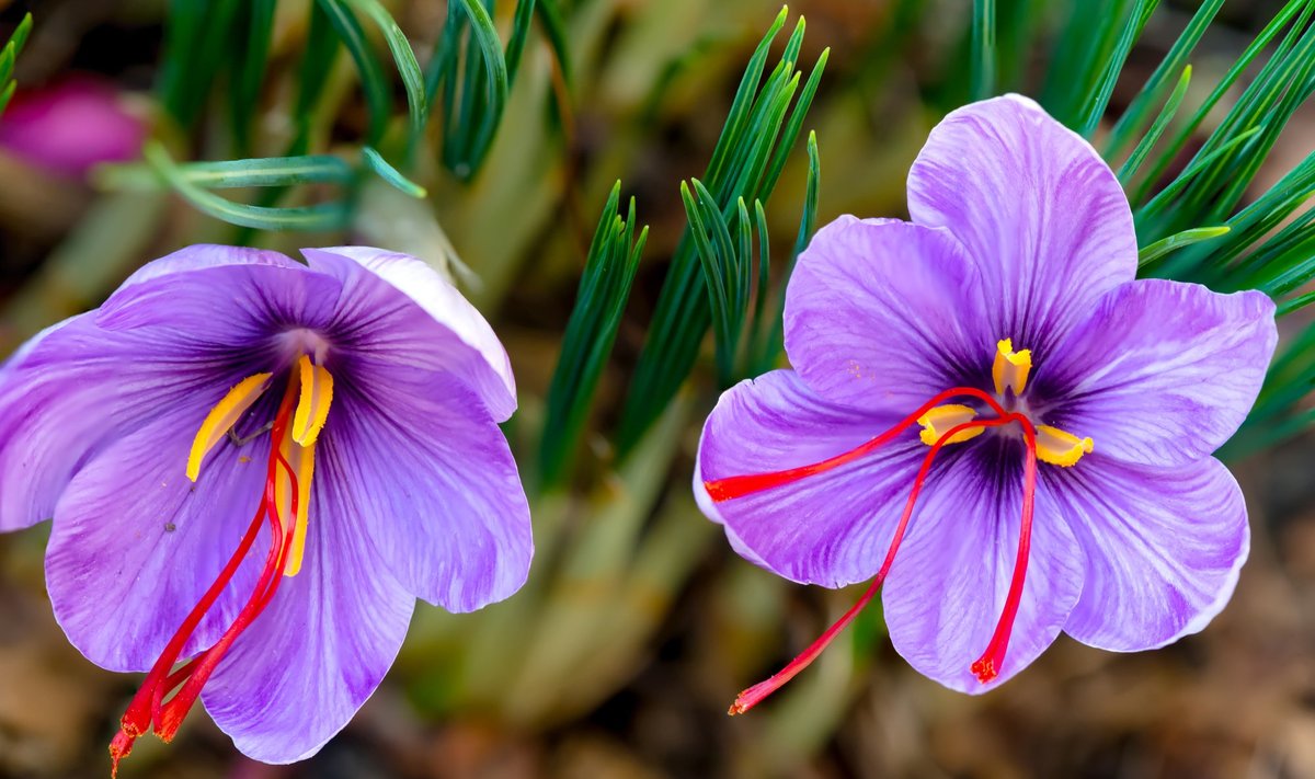
[[[515,379],[506,350],[480,312],[434,268],[364,246],[302,254],[313,268],[342,282],[339,329],[352,332],[360,359],[451,371],[479,393],[494,420],[512,416]]]

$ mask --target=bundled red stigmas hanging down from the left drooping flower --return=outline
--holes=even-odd
[[[283,441],[292,420],[292,411],[296,401],[296,393],[292,390],[293,386],[289,384],[288,392],[284,393],[275,416],[270,437],[270,461],[260,505],[256,508],[255,516],[251,518],[251,524],[233,553],[233,557],[229,558],[229,562],[220,571],[218,576],[216,576],[210,587],[183,620],[183,624],[164,646],[150,672],[147,672],[142,687],[128,704],[128,711],[124,712],[120,720],[120,732],[114,734],[114,738],[109,743],[110,776],[118,775],[118,762],[133,751],[133,742],[151,730],[153,724],[155,736],[164,742],[172,741],[184,717],[187,717],[187,713],[196,704],[197,697],[200,697],[201,688],[209,680],[210,674],[214,672],[220,661],[224,659],[229,647],[260,616],[279,590],[279,583],[284,578],[283,570],[292,546],[292,534],[296,525],[295,517],[299,511],[297,476],[292,465],[279,450],[280,441]],[[284,521],[284,517],[279,516],[276,503],[279,468],[283,468],[284,475],[291,482],[291,516],[287,517],[288,521]],[[213,646],[191,658],[178,670],[174,670],[188,640],[196,632],[205,615],[214,607],[214,603],[229,586],[238,567],[247,558],[247,554],[250,554],[264,520],[270,522],[270,551],[266,555],[264,568],[250,599]],[[170,693],[174,693],[172,697],[164,700]]]

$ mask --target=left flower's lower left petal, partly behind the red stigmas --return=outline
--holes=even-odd
[[[46,587],[68,641],[113,671],[146,671],[237,549],[260,503],[268,438],[216,447],[192,484],[197,396],[107,446],[64,490],[46,553]],[[249,458],[249,462],[242,462]],[[262,530],[255,550],[268,549]],[[184,657],[237,616],[263,563],[254,553],[201,621]],[[256,559],[260,558],[260,559]]]

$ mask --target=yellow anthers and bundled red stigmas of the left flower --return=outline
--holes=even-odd
[[[283,578],[295,576],[301,570],[310,508],[310,482],[314,476],[314,449],[320,432],[329,418],[333,375],[302,354],[289,371],[287,388],[274,421],[250,438],[238,438],[234,426],[270,388],[271,379],[272,374],[255,374],[239,382],[210,409],[192,441],[187,459],[187,478],[196,482],[205,455],[225,438],[235,446],[242,446],[268,433],[270,459],[264,486],[255,516],[237,551],[183,620],[128,705],[120,721],[120,732],[109,745],[113,775],[118,772],[118,761],[128,757],[133,750],[133,742],[151,729],[153,724],[155,734],[163,741],[174,738],[205,682],[237,637],[260,616],[277,592]],[[203,617],[214,607],[250,554],[264,521],[270,525],[270,550],[255,590],[213,646],[174,670]],[[174,695],[166,701],[164,696],[170,693]]]

